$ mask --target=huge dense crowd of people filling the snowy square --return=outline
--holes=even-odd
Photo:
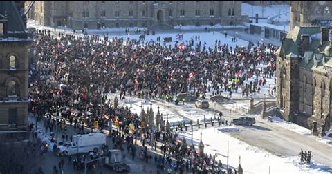
[[[174,46],[164,46],[160,38],[158,41],[144,41],[64,32],[51,35],[46,30],[37,30],[33,37],[33,49],[39,60],[29,68],[29,109],[37,117],[48,113],[46,125],[50,130],[54,126],[51,116],[68,119],[83,133],[82,125],[92,126],[95,121],[101,126],[107,125],[115,115],[123,131],[131,123],[138,129],[138,115],[128,108],[114,107],[111,99],[107,98],[109,93],[117,92],[120,99],[126,95],[165,99],[178,93],[192,93],[197,97],[208,92],[219,95],[221,91],[248,96],[248,93],[259,92],[266,78],[273,78],[275,73],[277,47],[254,46],[252,42],[246,47],[232,48],[222,43],[221,38],[215,41],[214,48],[206,48],[206,43],[202,46],[200,37],[196,36],[187,43],[177,40]],[[259,64],[268,66],[256,68]],[[248,78],[260,77],[261,74],[264,74],[263,78],[245,83]],[[170,157],[176,159],[180,173],[190,165],[202,170],[214,164],[218,166],[214,157],[198,154],[194,154],[194,164],[186,164],[180,157],[190,155],[192,151],[176,142],[174,133],[158,131],[138,135],[135,132],[130,136],[127,133],[128,137],[120,132],[113,137],[120,139],[114,139],[115,142],[126,139],[131,151],[138,136],[155,139],[154,142],[163,137],[164,145],[160,151],[168,157],[167,162]],[[121,143],[116,145],[121,147]],[[144,151],[142,157],[146,157]],[[158,168],[163,169],[163,160],[157,157],[156,161]]]

